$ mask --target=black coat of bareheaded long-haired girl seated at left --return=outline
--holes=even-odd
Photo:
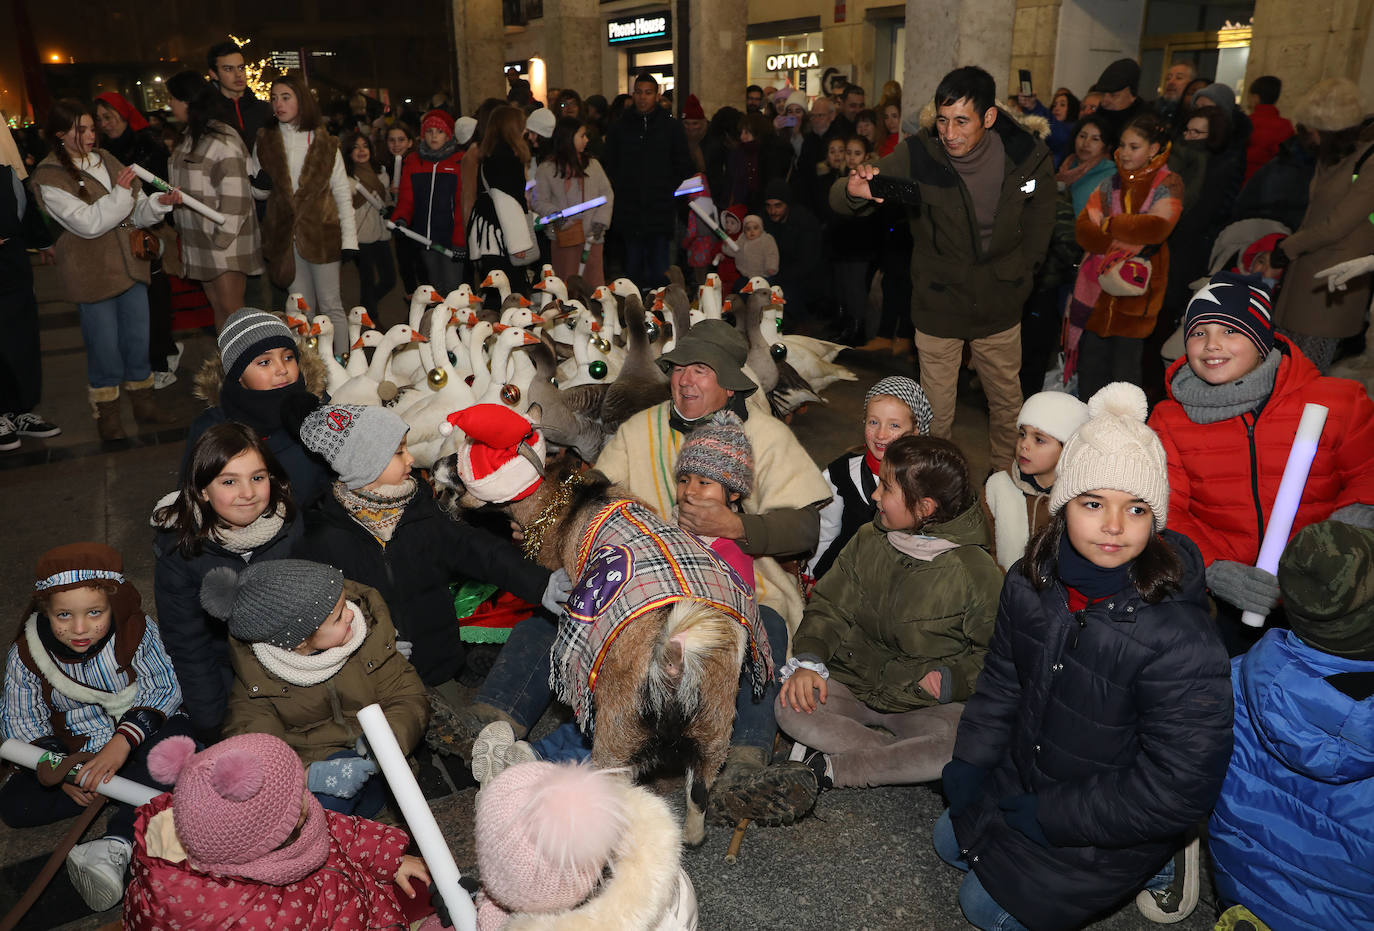
[[[294,556],[301,544],[302,523],[297,516],[247,559],[213,540],[202,544],[198,556],[187,559],[177,549],[177,537],[173,530],[158,530],[153,540],[158,630],[181,684],[181,709],[191,715],[196,736],[213,743],[224,722],[234,667],[229,665],[229,629],[201,607],[201,582],[220,566],[242,571],[251,563]]]

